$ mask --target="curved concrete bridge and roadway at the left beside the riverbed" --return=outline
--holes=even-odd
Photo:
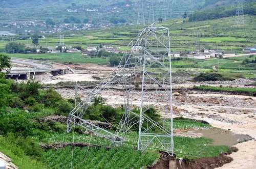
[[[4,72],[7,73],[8,78],[12,79],[32,79],[38,73],[51,73],[54,76],[74,73],[68,66],[58,63],[20,58],[11,58],[11,63],[12,68]]]

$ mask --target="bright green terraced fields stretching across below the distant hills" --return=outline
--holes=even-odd
[[[230,52],[242,52],[243,47],[255,45],[256,16],[245,16],[246,25],[236,27],[235,17],[227,17],[215,20],[187,22],[185,19],[173,19],[157,25],[169,27],[172,38],[173,51],[190,51],[196,49],[197,32],[200,33],[201,48],[222,49]],[[83,48],[93,45],[110,44],[126,49],[127,44],[135,38],[142,26],[119,26],[108,29],[96,29],[90,31],[67,32],[65,43],[68,46],[81,45]],[[58,44],[57,34],[47,34],[45,39],[39,40],[39,45],[55,47]],[[17,40],[16,42],[33,46],[31,40]],[[3,51],[8,43],[0,41],[0,49]]]

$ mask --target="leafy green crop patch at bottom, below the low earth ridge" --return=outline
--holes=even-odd
[[[71,147],[47,151],[44,154],[45,163],[51,168],[69,168],[71,152]],[[157,152],[141,153],[125,147],[114,147],[110,150],[75,147],[73,168],[141,168],[152,164],[157,158]]]

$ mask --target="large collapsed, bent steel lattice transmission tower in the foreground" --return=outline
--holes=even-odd
[[[111,73],[70,112],[67,131],[80,126],[84,133],[93,133],[114,145],[128,142],[128,133],[138,133],[133,141],[138,150],[157,149],[173,155],[172,66],[169,29],[153,24],[143,29],[129,44],[117,71]],[[85,120],[88,106],[105,90],[122,91],[124,114],[111,132]],[[155,121],[147,114],[157,107],[163,119]]]

